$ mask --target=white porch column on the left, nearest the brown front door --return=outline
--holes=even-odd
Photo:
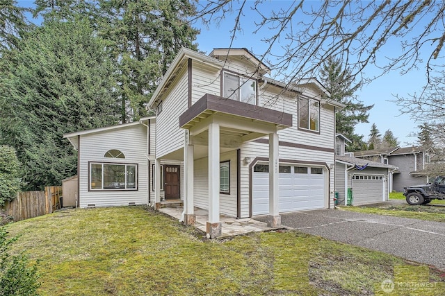
[[[188,130],[185,132],[184,141],[184,223],[194,225],[196,222],[193,207],[193,153],[194,147]]]

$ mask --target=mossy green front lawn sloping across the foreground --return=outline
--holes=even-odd
[[[59,211],[8,231],[13,251],[39,261],[40,295],[380,295],[401,268],[435,283],[421,295],[445,289],[439,270],[381,252],[293,231],[209,241],[143,207]]]

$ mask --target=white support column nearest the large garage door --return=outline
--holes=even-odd
[[[280,159],[278,156],[278,134],[273,132],[269,134],[269,216],[268,227],[280,227],[281,216],[279,209],[280,191],[279,185],[279,166]]]

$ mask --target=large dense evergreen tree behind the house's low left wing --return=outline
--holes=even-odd
[[[25,189],[76,173],[63,134],[118,122],[113,64],[88,21],[44,21],[0,67],[0,141],[17,150]]]

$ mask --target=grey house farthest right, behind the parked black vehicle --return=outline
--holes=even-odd
[[[398,192],[403,192],[403,187],[406,186],[429,182],[425,168],[430,163],[432,155],[433,150],[431,148],[423,150],[416,146],[364,150],[354,153],[355,157],[372,159],[396,166],[397,170],[394,171],[391,191]]]

